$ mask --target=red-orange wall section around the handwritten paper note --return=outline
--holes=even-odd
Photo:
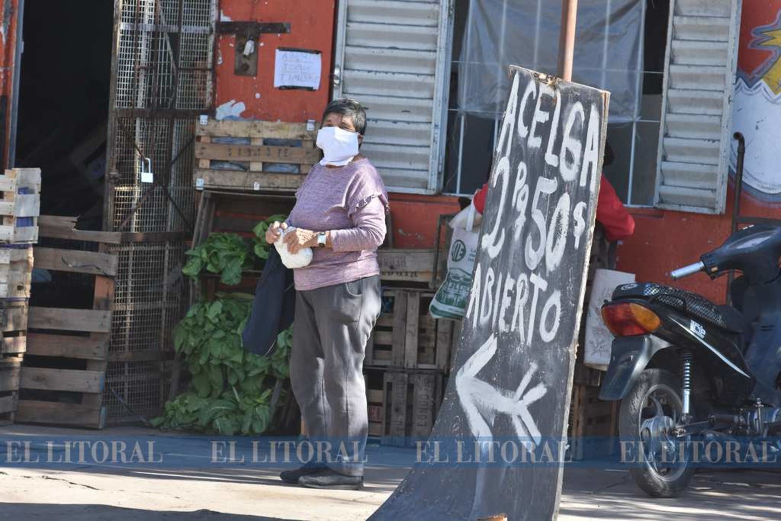
[[[215,106],[229,107],[246,120],[303,123],[319,121],[330,96],[334,0],[222,0],[219,20],[291,23],[290,34],[261,34],[258,76],[234,74],[234,35],[219,37]],[[323,73],[316,91],[274,88],[274,55],[278,47],[305,48],[323,54]],[[241,104],[244,104],[241,109]]]

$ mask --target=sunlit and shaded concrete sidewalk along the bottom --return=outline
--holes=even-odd
[[[0,440],[9,435],[44,440],[98,434],[154,436],[166,468],[2,466],[0,519],[366,519],[394,491],[415,458],[412,449],[370,447],[369,460],[378,463],[367,467],[362,491],[317,491],[282,484],[280,468],[212,464],[203,437],[137,428],[96,433],[9,426],[0,429]],[[177,463],[169,466],[169,460]],[[654,500],[637,490],[628,473],[571,468],[565,472],[558,519],[781,519],[781,474],[698,474],[681,498]]]

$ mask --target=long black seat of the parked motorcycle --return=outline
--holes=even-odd
[[[723,330],[741,333],[744,331],[744,320],[736,310],[725,312],[720,306],[704,298],[702,295],[679,289],[678,287],[664,286],[647,282],[643,284],[624,284],[615,288],[613,299],[640,297],[648,298],[680,312],[685,312],[694,318],[701,319],[713,326],[721,327]]]

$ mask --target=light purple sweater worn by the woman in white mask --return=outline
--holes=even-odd
[[[308,291],[380,273],[377,247],[385,240],[387,191],[369,159],[347,166],[312,166],[287,219],[293,227],[331,232],[331,248],[312,248],[312,263],[294,269],[295,287]]]

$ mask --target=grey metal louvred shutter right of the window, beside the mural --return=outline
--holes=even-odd
[[[656,205],[723,213],[740,0],[671,0]]]

